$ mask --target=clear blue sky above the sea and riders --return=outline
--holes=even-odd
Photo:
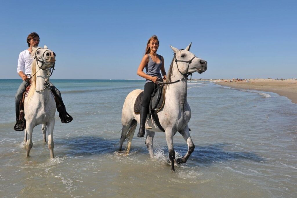
[[[54,79],[141,79],[152,35],[167,71],[179,49],[208,62],[194,78],[296,78],[297,1],[1,1],[0,78],[18,78],[35,31],[56,53]]]

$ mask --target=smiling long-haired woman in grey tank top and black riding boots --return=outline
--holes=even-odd
[[[147,114],[149,113],[149,102],[151,100],[151,94],[154,91],[155,83],[162,80],[160,70],[163,75],[163,80],[166,79],[164,58],[157,54],[158,47],[158,37],[154,35],[151,38],[149,38],[148,43],[146,45],[146,53],[143,56],[137,70],[137,75],[146,79],[140,109],[140,127],[137,137],[143,137],[145,134],[144,125],[146,122]],[[146,74],[143,72],[144,68],[146,68]]]

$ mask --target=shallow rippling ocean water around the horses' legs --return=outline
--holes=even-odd
[[[137,132],[128,156],[114,153],[124,99],[143,80],[51,81],[74,119],[60,126],[56,114],[54,159],[41,125],[25,157],[13,130],[21,80],[0,80],[0,197],[297,197],[297,104],[284,96],[189,82],[195,151],[171,172],[164,133],[154,159]],[[187,152],[180,134],[174,148]]]

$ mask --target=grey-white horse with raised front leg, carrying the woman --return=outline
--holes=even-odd
[[[191,43],[192,44],[192,43]],[[207,69],[207,62],[196,57],[189,52],[191,44],[185,50],[178,50],[171,47],[174,51],[174,57],[171,62],[165,87],[165,104],[162,110],[158,112],[158,117],[161,126],[165,129],[166,142],[168,145],[169,159],[171,170],[174,171],[174,162],[178,164],[186,163],[187,159],[194,151],[195,145],[192,142],[189,133],[188,122],[191,118],[191,109],[187,102],[187,77],[193,72],[202,73]],[[122,150],[122,145],[128,137],[127,152],[131,145],[132,137],[140,122],[140,115],[134,113],[134,103],[137,96],[143,90],[136,89],[128,94],[125,99],[122,110],[122,134],[120,140],[119,151]],[[158,131],[158,130],[154,130]],[[175,152],[173,149],[173,136],[179,132],[186,140],[188,152],[182,157],[175,160]],[[153,129],[146,130],[146,146],[149,150],[150,157],[154,157],[153,153],[153,138],[155,132]],[[132,137],[131,137],[132,136]],[[126,152],[126,153],[127,153]]]

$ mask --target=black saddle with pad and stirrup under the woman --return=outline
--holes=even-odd
[[[142,103],[143,91],[137,96],[135,103],[134,103],[134,113],[140,114],[140,108]],[[165,91],[164,86],[159,85],[157,88],[154,89],[153,93],[151,94],[151,101],[149,106],[149,117],[146,120],[146,129],[159,129],[162,132],[165,132],[163,127],[159,122],[158,112],[162,110],[165,104]],[[156,125],[156,126],[155,126]]]

